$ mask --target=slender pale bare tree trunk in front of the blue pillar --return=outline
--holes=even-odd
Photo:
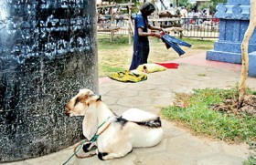
[[[249,67],[249,57],[248,57],[248,45],[253,34],[253,31],[256,26],[256,1],[251,0],[251,14],[250,14],[250,23],[249,26],[244,34],[242,43],[241,43],[241,58],[242,58],[242,65],[241,65],[241,77],[240,77],[240,97],[239,97],[239,105],[241,106],[244,95],[246,93],[246,80],[248,77],[248,67]]]

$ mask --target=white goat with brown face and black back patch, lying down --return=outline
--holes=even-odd
[[[159,117],[137,108],[118,117],[90,89],[80,89],[66,109],[69,117],[84,116],[82,131],[90,141],[82,149],[89,152],[96,148],[100,160],[124,157],[133,148],[153,147],[163,138]]]

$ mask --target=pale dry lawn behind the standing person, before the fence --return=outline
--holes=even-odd
[[[192,47],[182,47],[186,54],[181,57],[195,55],[206,52],[213,48],[214,41],[199,39],[182,39],[192,45]],[[106,77],[113,72],[128,70],[133,57],[133,44],[128,44],[127,36],[114,36],[110,41],[110,36],[98,36],[99,55],[99,77]],[[171,61],[179,56],[174,50],[166,49],[165,44],[156,38],[150,37],[150,54],[148,63]]]

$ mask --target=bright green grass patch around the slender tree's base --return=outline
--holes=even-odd
[[[251,90],[249,92],[253,93]],[[170,120],[185,123],[198,134],[232,141],[251,141],[256,137],[256,117],[235,115],[214,111],[210,105],[219,104],[224,98],[237,96],[237,88],[196,89],[195,93],[183,100],[188,106],[162,108],[163,115]]]

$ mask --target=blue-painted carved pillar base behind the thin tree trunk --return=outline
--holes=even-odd
[[[207,52],[208,60],[241,64],[240,45],[250,19],[250,0],[228,0],[217,6],[220,19],[219,40],[214,50]],[[249,53],[256,51],[256,32],[251,36]]]

